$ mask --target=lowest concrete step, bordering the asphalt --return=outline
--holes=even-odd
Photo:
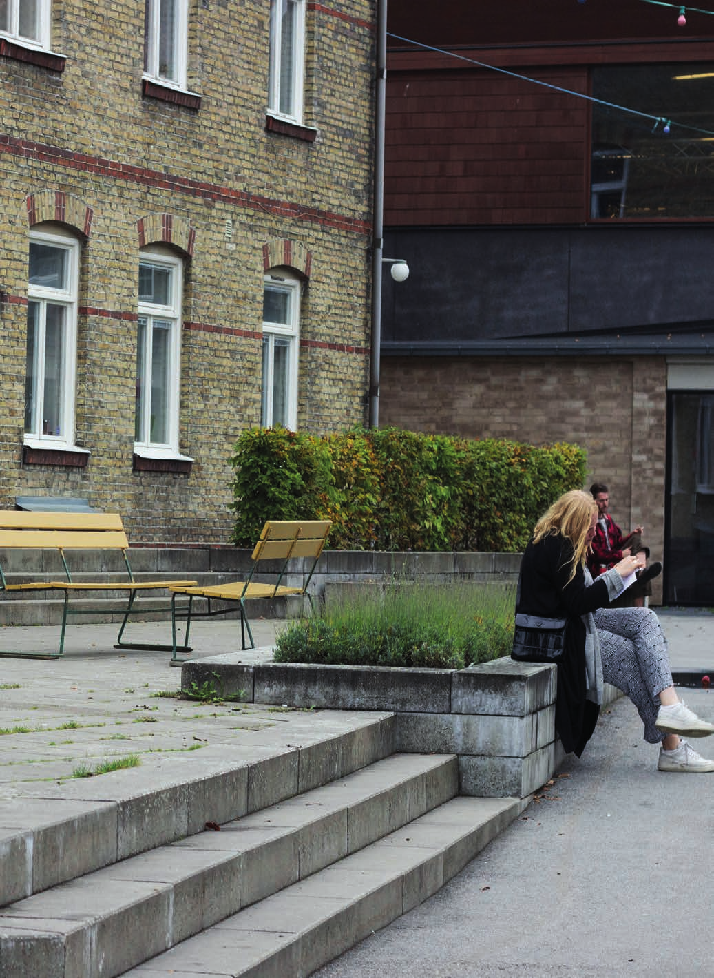
[[[454,798],[124,978],[305,978],[436,893],[521,809],[513,798]]]

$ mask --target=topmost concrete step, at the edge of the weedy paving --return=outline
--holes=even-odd
[[[395,736],[393,715],[359,714],[289,749],[223,741],[0,799],[0,907],[361,771]]]

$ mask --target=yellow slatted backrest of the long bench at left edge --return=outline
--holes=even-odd
[[[129,546],[115,512],[0,511],[0,548],[125,550]]]

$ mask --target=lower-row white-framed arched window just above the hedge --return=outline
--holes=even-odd
[[[297,345],[300,329],[300,283],[288,275],[266,275],[263,287],[263,376],[260,423],[297,423]]]

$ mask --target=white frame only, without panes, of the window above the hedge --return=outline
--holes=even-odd
[[[268,289],[280,291],[289,297],[289,312],[286,323],[273,323],[263,320],[263,357],[261,371],[260,424],[272,427],[275,423],[284,424],[294,431],[297,427],[297,364],[300,341],[300,292],[299,279],[288,272],[274,271],[265,276],[263,295]],[[286,417],[276,421],[274,417],[275,392],[275,348],[276,340],[287,340],[288,369],[286,377]]]

